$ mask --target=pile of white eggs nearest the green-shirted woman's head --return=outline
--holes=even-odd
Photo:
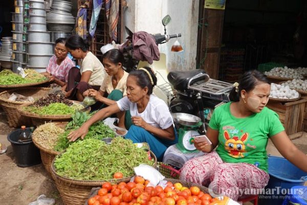
[[[296,90],[292,90],[289,86],[271,84],[270,97],[278,99],[293,99],[298,98],[299,94]]]

